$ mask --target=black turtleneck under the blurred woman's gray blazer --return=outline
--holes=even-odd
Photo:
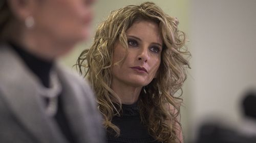
[[[20,58],[23,59],[26,66],[39,78],[42,85],[44,85],[46,88],[50,87],[50,71],[53,67],[54,62],[53,61],[46,61],[44,59],[40,59],[30,52],[26,51],[21,46],[15,44],[14,42],[9,42],[11,47],[18,53]],[[58,96],[58,110],[56,115],[54,116],[54,119],[58,123],[58,126],[60,130],[62,131],[63,135],[69,140],[71,143],[76,143],[76,139],[74,137],[74,134],[72,133],[69,122],[67,120],[67,117],[65,115],[65,112],[63,110],[63,105],[61,102],[61,93]],[[44,98],[42,99],[46,104],[48,104],[48,99]]]

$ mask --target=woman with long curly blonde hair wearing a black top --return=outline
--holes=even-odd
[[[154,3],[112,11],[77,60],[91,83],[109,142],[183,142],[182,99],[190,53],[178,20]]]

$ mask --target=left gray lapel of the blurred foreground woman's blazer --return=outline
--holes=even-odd
[[[0,48],[0,86],[9,108],[39,142],[66,143],[54,120],[45,114],[38,79],[11,49]]]

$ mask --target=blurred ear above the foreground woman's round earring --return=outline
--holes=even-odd
[[[18,20],[24,21],[28,16],[33,16],[36,6],[34,0],[9,0],[7,2]]]

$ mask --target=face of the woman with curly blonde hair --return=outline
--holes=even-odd
[[[126,32],[127,57],[111,69],[112,83],[143,87],[156,76],[162,51],[159,27],[150,21],[135,22]],[[114,44],[113,62],[125,56],[125,48],[117,41]]]

